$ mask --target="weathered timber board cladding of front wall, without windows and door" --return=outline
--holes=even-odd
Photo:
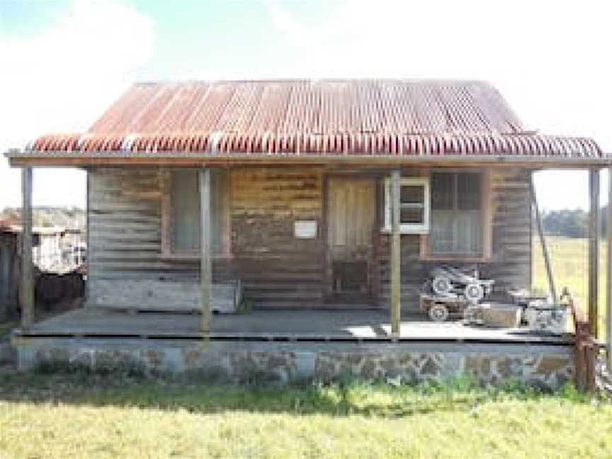
[[[380,219],[385,171],[356,171],[354,176],[364,174],[378,180]],[[402,174],[419,175],[423,170],[404,169]],[[496,280],[497,288],[529,288],[531,172],[490,169],[489,176],[491,258],[484,263],[447,263],[476,264],[483,277]],[[228,254],[213,259],[213,283],[240,280],[244,299],[259,309],[326,306],[324,296],[330,280],[326,269],[325,171],[316,167],[251,167],[231,169],[227,177]],[[88,304],[142,310],[180,310],[199,305],[199,260],[162,253],[163,183],[163,169],[89,170]],[[293,225],[297,220],[314,220],[317,236],[295,238]],[[382,227],[382,221],[377,225]],[[418,312],[419,291],[434,262],[421,260],[419,235],[404,234],[401,241],[402,309]],[[386,309],[390,290],[388,235],[377,231],[373,245],[373,299],[369,306]],[[118,280],[130,285],[140,283],[142,300],[125,304],[125,290],[118,288]],[[181,302],[179,295],[169,304],[164,290],[184,291],[185,301]]]

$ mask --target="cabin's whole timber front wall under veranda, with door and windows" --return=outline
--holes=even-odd
[[[405,310],[418,311],[435,263],[477,265],[499,288],[530,287],[530,180],[508,167],[402,169]],[[198,186],[193,167],[89,170],[91,305],[199,308]],[[213,309],[227,309],[215,303],[237,281],[255,309],[387,308],[390,213],[384,167],[211,168]]]

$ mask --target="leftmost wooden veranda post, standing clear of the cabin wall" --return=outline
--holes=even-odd
[[[32,264],[32,168],[21,169],[21,326],[34,323],[34,268]]]

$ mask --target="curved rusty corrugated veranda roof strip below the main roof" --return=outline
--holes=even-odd
[[[79,141],[81,135],[46,135],[39,137],[32,147],[33,152],[74,152],[88,154],[95,152],[158,153],[214,153],[218,156],[232,154],[268,154],[272,156],[300,156],[318,154],[322,156],[366,155],[419,157],[432,155],[483,155],[509,157],[603,157],[599,146],[583,137],[557,137],[550,135],[499,135],[483,134],[440,134],[440,135],[386,135],[388,142],[377,142],[373,134],[336,134],[328,136],[295,136],[252,133],[244,135],[241,142],[234,142],[233,133],[217,137],[217,146],[210,149],[210,132],[188,135],[141,135],[129,150],[121,149],[129,135],[92,135]],[[233,138],[232,138],[233,137]],[[360,138],[356,138],[360,137]],[[377,138],[378,137],[378,138]],[[246,142],[243,142],[246,139]],[[528,140],[528,142],[527,142]],[[494,148],[492,148],[494,146]]]

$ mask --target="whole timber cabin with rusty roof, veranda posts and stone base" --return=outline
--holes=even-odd
[[[592,387],[611,157],[526,128],[482,81],[141,83],[87,132],[7,156],[23,177],[22,368],[129,359],[232,381],[348,370]],[[35,323],[32,168],[51,166],[88,174],[88,292],[84,309]],[[475,268],[497,293],[531,288],[533,171],[559,168],[590,176],[589,319],[576,315],[575,339],[419,321],[439,264]],[[237,310],[251,313],[212,317]]]

